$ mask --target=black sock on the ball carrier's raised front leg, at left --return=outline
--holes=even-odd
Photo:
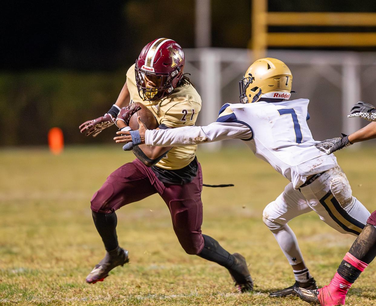
[[[112,251],[118,247],[116,225],[117,217],[115,212],[111,214],[102,214],[91,211],[95,227],[99,232],[102,241],[105,244],[106,251]]]

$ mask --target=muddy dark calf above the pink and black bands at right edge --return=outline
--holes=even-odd
[[[366,224],[364,226],[349,253],[366,264],[373,261],[376,257],[376,228],[373,225]]]

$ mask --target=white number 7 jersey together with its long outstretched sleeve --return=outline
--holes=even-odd
[[[307,120],[308,99],[282,102],[224,104],[218,119],[204,127],[147,130],[146,145],[187,146],[224,139],[241,139],[298,188],[310,175],[337,166],[333,154],[315,147]]]

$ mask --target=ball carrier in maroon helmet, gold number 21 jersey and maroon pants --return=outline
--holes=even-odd
[[[183,75],[184,64],[184,52],[175,41],[159,38],[150,42],[129,68],[126,83],[111,112],[85,122],[80,126],[81,132],[96,136],[112,122],[121,130],[130,130],[127,120],[137,109],[132,107],[133,103],[146,106],[158,121],[159,129],[194,125],[201,110],[201,98],[189,78]],[[120,108],[121,113],[115,114]],[[118,245],[115,211],[158,193],[170,210],[175,234],[185,252],[226,267],[240,291],[252,290],[253,282],[244,257],[230,254],[218,241],[201,232],[202,170],[196,158],[197,146],[169,149],[165,155],[163,147],[137,146],[133,152],[138,158],[112,172],[92,197],[94,224],[107,253],[86,277],[86,282],[102,281],[113,268],[128,262],[128,251]]]

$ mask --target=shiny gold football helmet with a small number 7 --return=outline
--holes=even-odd
[[[293,75],[279,59],[265,57],[256,60],[239,81],[240,103],[257,102],[261,96],[272,99],[289,99]]]

